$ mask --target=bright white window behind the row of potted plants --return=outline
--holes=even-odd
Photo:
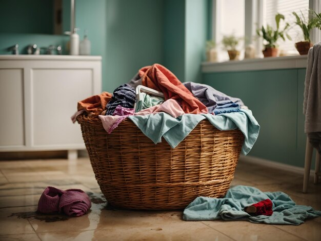
[[[289,35],[292,41],[279,39],[278,45],[282,53],[287,55],[298,54],[295,43],[302,40],[302,31],[294,24],[295,17],[292,12],[300,15],[300,11],[308,18],[308,9],[321,12],[319,0],[212,0],[212,33],[213,39],[218,44],[218,61],[226,61],[228,55],[223,50],[222,41],[224,35],[234,33],[238,37],[245,37],[245,42],[239,45],[253,44],[257,57],[262,57],[263,39],[258,38],[256,29],[267,24],[275,27],[275,14],[281,13],[285,16],[286,22],[291,24]],[[284,24],[283,22],[281,24]],[[280,25],[280,27],[283,27]],[[311,33],[313,43],[321,41],[321,31],[314,29]],[[243,56],[244,54],[241,53]],[[242,57],[241,57],[242,58]]]

